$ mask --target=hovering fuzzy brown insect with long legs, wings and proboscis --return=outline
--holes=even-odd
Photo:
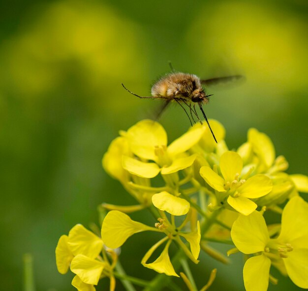
[[[157,118],[161,115],[162,111],[166,109],[168,104],[170,102],[175,101],[177,102],[184,110],[186,115],[189,118],[190,124],[192,126],[191,119],[189,117],[189,114],[187,113],[184,106],[187,106],[190,112],[190,116],[194,123],[195,120],[193,118],[193,114],[196,116],[198,121],[202,124],[202,121],[200,120],[198,113],[196,111],[195,105],[198,104],[202,115],[207,122],[210,131],[213,135],[213,138],[216,141],[216,137],[214,135],[214,132],[210,126],[210,123],[208,121],[208,118],[205,115],[205,112],[202,108],[203,104],[209,103],[209,97],[212,95],[208,95],[205,92],[205,89],[203,85],[210,86],[210,85],[216,85],[221,82],[228,82],[236,79],[243,78],[242,75],[233,75],[233,76],[227,76],[227,77],[218,77],[218,78],[212,78],[207,80],[200,80],[200,78],[194,74],[188,74],[188,73],[178,73],[175,72],[170,64],[172,73],[168,73],[162,78],[160,78],[154,85],[152,86],[151,94],[152,96],[139,96],[131,91],[129,91],[122,83],[122,86],[125,90],[127,90],[130,94],[137,96],[139,98],[161,98],[165,100],[165,103],[163,104],[162,108],[159,111],[159,114]]]

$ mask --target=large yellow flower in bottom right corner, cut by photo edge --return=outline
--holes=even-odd
[[[246,291],[266,291],[271,261],[277,266],[281,260],[293,283],[308,288],[307,224],[308,203],[298,196],[291,198],[283,209],[281,232],[276,239],[270,239],[266,222],[256,211],[234,222],[231,237],[235,246],[244,254],[261,253],[245,263]]]

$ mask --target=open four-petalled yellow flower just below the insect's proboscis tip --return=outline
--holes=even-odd
[[[256,175],[246,180],[240,180],[243,160],[233,151],[226,151],[220,157],[221,178],[210,167],[200,169],[201,177],[214,188],[218,205],[227,199],[228,204],[241,214],[249,215],[256,208],[250,199],[266,195],[272,190],[272,181],[265,175]],[[249,199],[250,198],[250,199]]]

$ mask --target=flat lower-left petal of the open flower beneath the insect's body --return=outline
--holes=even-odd
[[[160,172],[159,167],[155,163],[141,162],[128,156],[122,157],[122,166],[130,174],[143,178],[154,178]]]

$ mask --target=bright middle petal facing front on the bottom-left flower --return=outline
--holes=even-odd
[[[105,266],[105,262],[100,262],[86,255],[76,255],[70,264],[70,270],[78,275],[82,282],[97,285]]]

